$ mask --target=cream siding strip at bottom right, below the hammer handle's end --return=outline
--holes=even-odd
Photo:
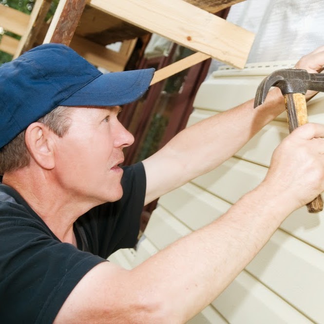
[[[324,253],[277,230],[246,269],[315,323],[324,323]]]

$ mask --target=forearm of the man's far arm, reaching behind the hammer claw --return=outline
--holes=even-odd
[[[285,110],[283,96],[277,88],[269,92],[266,102],[258,108],[253,108],[253,102],[252,99],[198,122],[170,142],[174,150],[181,150],[183,161],[190,163],[190,170],[195,173],[191,178],[229,159],[263,126]]]

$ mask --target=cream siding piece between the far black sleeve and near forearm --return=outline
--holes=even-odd
[[[159,250],[190,234],[191,230],[175,219],[161,206],[157,207],[150,218],[144,235]]]

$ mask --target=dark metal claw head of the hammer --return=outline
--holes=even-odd
[[[262,104],[272,86],[280,88],[281,93],[302,93],[307,90],[324,91],[324,74],[308,73],[302,69],[281,69],[272,72],[258,86],[254,108]]]

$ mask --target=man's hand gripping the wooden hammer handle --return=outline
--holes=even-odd
[[[275,149],[264,183],[289,197],[293,209],[324,191],[324,125],[296,128]]]

